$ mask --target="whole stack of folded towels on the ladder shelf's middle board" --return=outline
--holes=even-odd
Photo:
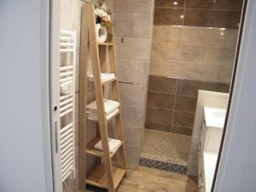
[[[107,119],[111,119],[115,114],[119,113],[119,102],[115,102],[113,100],[104,100],[104,108],[105,108],[105,114]],[[96,101],[90,102],[89,105],[86,107],[86,113],[88,116],[88,119],[98,119],[97,114],[97,105]]]

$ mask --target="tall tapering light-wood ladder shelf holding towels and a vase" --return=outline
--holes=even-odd
[[[81,23],[81,47],[80,47],[80,72],[79,72],[79,188],[85,190],[85,184],[94,185],[108,192],[114,192],[120,181],[126,174],[125,141],[123,133],[123,122],[120,107],[115,109],[116,113],[106,115],[106,99],[104,99],[104,90],[106,87],[111,90],[111,101],[119,102],[119,86],[117,80],[117,69],[115,61],[115,52],[113,44],[113,29],[108,28],[107,43],[98,43],[96,41],[96,18],[94,14],[94,5],[85,4],[82,8]],[[89,50],[90,49],[90,50]],[[109,57],[109,72],[114,77],[104,80],[102,75],[106,74],[107,52]],[[88,57],[91,57],[93,76],[87,74]],[[104,73],[104,74],[102,74]],[[91,77],[92,76],[92,77]],[[89,117],[87,103],[87,84],[93,80],[96,95],[96,116]],[[106,86],[106,84],[109,84]],[[105,88],[104,88],[105,87]],[[111,102],[110,101],[110,102]],[[87,110],[87,111],[86,111]],[[86,144],[86,122],[94,120],[99,128],[99,136]],[[108,145],[108,123],[115,119],[115,124],[119,140],[119,145],[111,153]],[[95,144],[102,142],[102,150],[95,148]],[[119,166],[113,163],[113,156],[119,153]],[[86,155],[94,155],[98,159],[94,166],[86,175]]]

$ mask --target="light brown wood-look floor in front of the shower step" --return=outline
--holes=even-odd
[[[107,192],[88,187],[87,192]],[[144,166],[129,166],[117,192],[198,192],[197,178]]]

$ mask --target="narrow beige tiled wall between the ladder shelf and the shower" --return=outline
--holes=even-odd
[[[154,0],[113,2],[127,161],[138,164],[145,123]]]

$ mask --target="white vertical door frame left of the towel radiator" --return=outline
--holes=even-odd
[[[53,191],[62,192],[60,140],[61,0],[49,0],[49,117]],[[56,56],[57,55],[57,56]]]

